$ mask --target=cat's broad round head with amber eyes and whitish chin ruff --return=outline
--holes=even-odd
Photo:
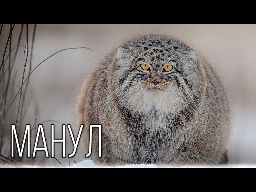
[[[117,50],[115,96],[136,112],[171,112],[195,96],[200,73],[195,51],[176,38],[134,38]]]

